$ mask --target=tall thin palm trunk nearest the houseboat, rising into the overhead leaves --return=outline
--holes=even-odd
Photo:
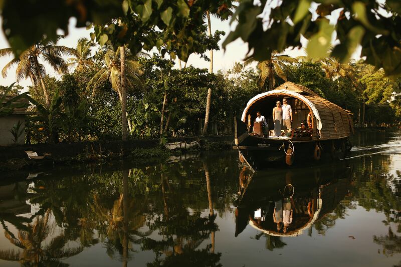
[[[228,6],[222,6],[221,9],[218,10],[218,13],[214,14],[217,18],[219,18],[220,20],[227,20],[229,17],[232,17],[234,12],[232,9],[236,9],[237,6],[233,5],[232,3],[231,7]],[[223,10],[224,9],[224,10]],[[226,14],[228,14],[227,18],[222,18],[220,16],[221,12],[225,12]],[[206,18],[208,20],[208,34],[210,37],[212,37],[212,23],[210,20],[210,12],[209,10],[206,11]],[[180,66],[181,66],[181,62]],[[181,69],[181,68],[180,68]],[[209,65],[209,73],[213,73],[213,50],[210,51],[210,65]],[[206,112],[205,112],[205,124],[204,124],[204,129],[202,131],[202,135],[206,135],[206,133],[208,132],[208,125],[209,125],[209,116],[210,116],[210,105],[212,102],[212,89],[209,88],[208,89],[208,97],[206,100]]]

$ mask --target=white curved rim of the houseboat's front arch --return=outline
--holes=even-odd
[[[322,122],[319,116],[319,111],[317,110],[315,104],[313,104],[309,99],[307,99],[305,96],[294,92],[294,91],[290,91],[287,89],[276,89],[276,90],[272,90],[272,91],[268,91],[259,95],[254,96],[253,98],[251,98],[251,100],[248,101],[247,107],[244,109],[242,116],[241,116],[241,120],[243,122],[246,122],[246,118],[247,118],[247,113],[248,110],[251,108],[251,106],[253,104],[255,104],[256,102],[258,102],[259,100],[269,96],[269,95],[277,95],[277,94],[284,94],[284,95],[291,95],[295,98],[300,99],[301,101],[303,101],[309,108],[310,110],[312,110],[313,115],[316,118],[316,127],[318,130],[322,129]]]

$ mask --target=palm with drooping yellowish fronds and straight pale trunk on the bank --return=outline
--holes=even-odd
[[[121,124],[123,133],[122,139],[126,140],[127,96],[125,85],[127,85],[129,88],[134,88],[135,86],[143,86],[139,78],[139,76],[142,75],[142,71],[140,70],[140,65],[137,59],[138,56],[144,56],[147,54],[139,52],[137,55],[131,55],[128,49],[126,49],[125,47],[121,48],[115,49],[112,45],[108,45],[106,47],[107,50],[104,55],[105,65],[95,74],[95,76],[93,76],[87,86],[87,89],[92,87],[94,94],[95,91],[100,86],[104,85],[107,81],[111,84],[113,90],[117,92],[118,98],[121,103]],[[123,52],[123,54],[121,54],[121,52]],[[123,73],[123,75],[121,75],[121,72]]]

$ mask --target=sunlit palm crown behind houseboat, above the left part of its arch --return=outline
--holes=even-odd
[[[244,68],[255,61],[254,58],[249,58],[244,62]],[[270,59],[259,62],[257,68],[260,71],[259,74],[259,87],[264,88],[266,81],[269,82],[268,91],[273,90],[276,85],[275,76],[280,77],[284,81],[287,82],[286,73],[289,72],[288,66],[286,63],[296,63],[297,59],[292,58],[288,55],[278,55],[277,51],[273,51]]]

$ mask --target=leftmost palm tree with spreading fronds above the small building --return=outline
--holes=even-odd
[[[46,69],[40,61],[46,62],[60,74],[68,72],[67,63],[62,56],[76,55],[76,51],[66,46],[57,46],[57,41],[62,38],[64,37],[61,35],[59,35],[56,40],[44,38],[31,46],[28,50],[24,51],[18,59],[14,58],[6,64],[2,70],[3,78],[7,76],[7,72],[10,68],[17,66],[17,82],[22,79],[31,79],[35,86],[40,83],[45,95],[46,104],[49,105],[50,98],[43,79],[46,75]],[[4,56],[13,56],[13,50],[11,48],[0,49],[0,57]]]

